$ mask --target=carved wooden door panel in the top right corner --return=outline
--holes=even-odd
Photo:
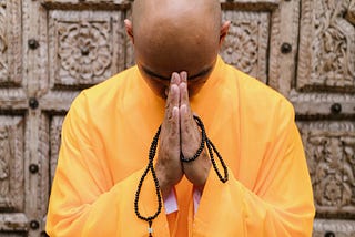
[[[354,1],[304,0],[297,86],[355,91]]]

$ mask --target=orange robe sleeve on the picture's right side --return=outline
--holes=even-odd
[[[255,185],[261,187],[258,190],[246,188],[231,169],[230,179],[223,184],[211,168],[193,236],[312,235],[312,185],[293,109],[278,124],[285,125],[275,128],[270,152],[263,157],[263,171]]]

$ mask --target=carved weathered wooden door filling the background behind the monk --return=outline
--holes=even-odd
[[[355,235],[355,1],[221,0],[225,61],[288,97],[314,236]],[[133,64],[123,0],[0,0],[0,236],[44,236],[60,130],[83,89]]]

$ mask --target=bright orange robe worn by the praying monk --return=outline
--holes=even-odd
[[[72,103],[49,204],[50,236],[148,236],[134,195],[165,102],[138,68],[84,90]],[[311,236],[313,194],[292,105],[219,58],[191,106],[224,158],[230,179],[211,168],[197,212],[193,186],[175,187],[179,210],[153,221],[153,236]],[[151,176],[140,210],[152,215]]]

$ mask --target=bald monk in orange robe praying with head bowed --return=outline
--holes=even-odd
[[[135,0],[124,23],[136,65],[73,101],[47,233],[311,236],[294,110],[219,56],[219,1]]]

